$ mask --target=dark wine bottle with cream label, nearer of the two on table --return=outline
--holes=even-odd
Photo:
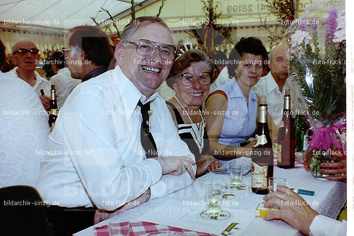
[[[273,177],[272,139],[267,123],[267,97],[262,96],[258,107],[258,123],[252,150],[251,187],[255,194],[268,194],[269,178]]]

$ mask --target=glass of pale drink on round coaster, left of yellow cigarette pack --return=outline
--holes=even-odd
[[[209,215],[219,215],[222,212],[222,199],[223,185],[215,183],[205,185],[206,212]]]

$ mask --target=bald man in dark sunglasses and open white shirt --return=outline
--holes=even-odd
[[[23,39],[15,43],[12,47],[12,55],[10,57],[13,64],[16,66],[8,74],[11,77],[17,77],[27,82],[33,87],[40,98],[43,106],[48,110],[50,108],[50,90],[51,82],[40,77],[35,71],[37,62],[40,59],[37,46],[29,39]],[[41,96],[40,89],[43,89],[45,96]]]

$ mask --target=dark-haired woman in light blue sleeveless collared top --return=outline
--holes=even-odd
[[[252,143],[247,139],[256,130],[259,101],[251,87],[261,77],[266,57],[267,50],[259,39],[241,39],[230,53],[230,81],[217,87],[206,100],[210,150],[223,164],[236,157],[251,156]],[[273,120],[267,118],[272,130]]]

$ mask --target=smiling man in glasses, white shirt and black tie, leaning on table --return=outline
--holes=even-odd
[[[92,225],[97,209],[100,220],[124,203],[192,184],[194,156],[155,92],[174,55],[166,24],[139,17],[124,28],[118,66],[70,93],[50,135],[48,150],[56,152],[42,160],[37,183],[43,200],[56,205],[49,220],[57,228],[73,233]]]

